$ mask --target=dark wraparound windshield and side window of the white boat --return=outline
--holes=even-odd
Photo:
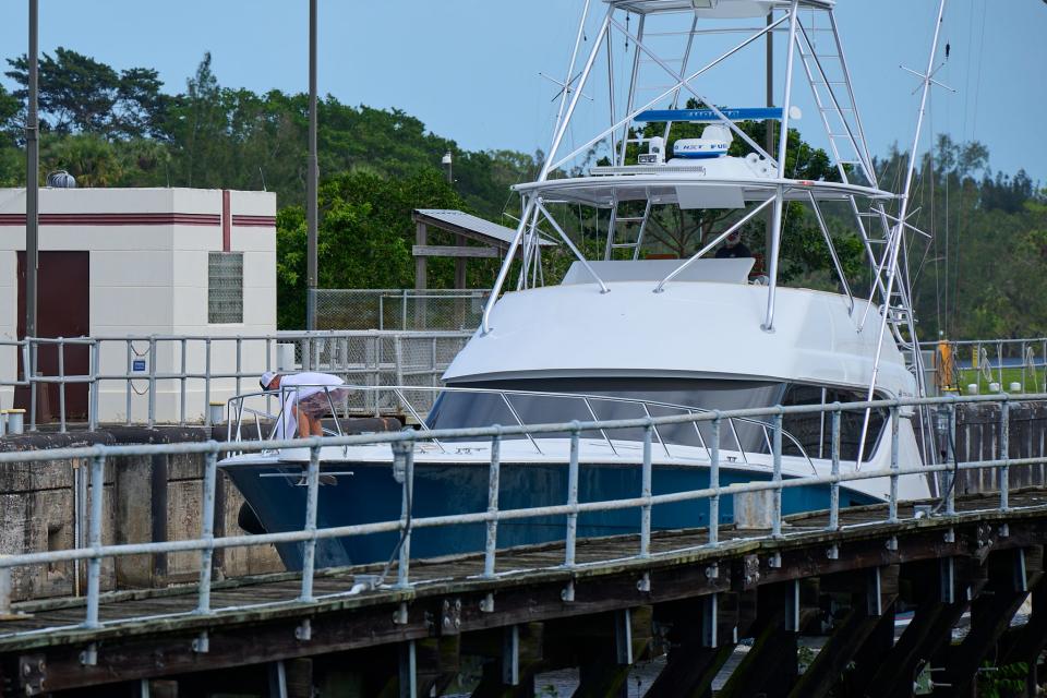
[[[431,429],[462,429],[492,424],[516,425],[555,422],[591,422],[594,420],[642,419],[666,417],[701,410],[736,410],[774,405],[818,405],[858,399],[844,390],[802,384],[763,381],[717,381],[674,378],[545,378],[469,383],[461,388],[484,388],[488,392],[445,390],[433,405],[428,424]],[[514,390],[553,393],[556,395],[519,394]],[[574,397],[574,396],[578,397]],[[588,396],[588,397],[582,397]],[[863,418],[844,419],[841,457],[856,457]],[[870,420],[870,443],[882,428],[883,416]],[[721,428],[720,447],[725,450],[769,453],[767,430],[770,418],[732,420]],[[782,453],[828,457],[829,420],[822,414],[786,416],[784,428],[797,441],[783,440]],[[615,430],[615,441],[642,441],[641,429]],[[567,434],[546,434],[546,437]],[[583,436],[602,438],[600,432]],[[709,422],[667,424],[658,430],[666,444],[708,446],[711,444]]]

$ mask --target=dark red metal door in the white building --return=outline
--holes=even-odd
[[[86,337],[91,333],[91,253],[40,252],[37,273],[37,335],[40,337]],[[19,339],[25,337],[25,253],[19,252]],[[63,354],[65,375],[87,375],[91,351],[86,346],[67,346]],[[41,346],[37,353],[37,374],[58,375],[58,348]],[[22,353],[19,353],[22,375]],[[14,406],[29,409],[28,388],[14,392]],[[37,388],[38,423],[58,420],[59,387]],[[87,419],[87,384],[65,386],[65,419]]]

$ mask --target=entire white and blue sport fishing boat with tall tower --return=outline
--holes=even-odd
[[[782,106],[720,106],[738,104],[721,100],[745,99],[748,93],[713,94],[715,86],[736,85],[738,74],[729,81],[713,75],[732,63],[751,74],[754,64],[763,65],[768,36],[774,36],[785,67],[775,97]],[[423,430],[442,430],[922,394],[904,254],[905,234],[913,230],[904,224],[908,183],[895,194],[877,179],[833,2],[585,0],[561,87],[541,171],[515,188],[519,225],[481,326],[445,373],[432,409],[421,414],[411,406],[410,398],[423,390],[417,387],[358,386],[359,395],[393,396]],[[751,135],[754,124],[789,133],[802,117],[795,99],[801,87],[832,164],[817,180],[796,177],[802,168],[787,161],[785,139],[770,147]],[[820,233],[833,290],[782,284],[791,216]],[[691,231],[681,245],[684,254],[666,249],[665,232],[674,221],[676,232]],[[850,230],[841,232],[843,226]],[[753,239],[754,230],[762,244]],[[743,254],[744,243],[725,246],[738,233],[762,249],[762,260]],[[842,234],[864,250],[865,296],[838,254]],[[550,246],[540,242],[550,238],[561,243],[552,254],[573,258],[562,278],[554,278]],[[906,353],[915,366],[906,365]],[[262,399],[266,396],[236,398],[230,413],[243,414],[250,400]],[[829,417],[783,418],[783,477],[830,472]],[[891,424],[886,410],[844,412],[841,467],[887,467],[891,440],[882,436],[894,428],[902,461],[925,461],[912,424],[920,418],[901,410],[893,418],[899,423]],[[769,425],[766,417],[736,417],[725,420],[718,435],[710,422],[659,428],[654,491],[707,486],[714,446],[721,484],[770,479]],[[581,501],[639,492],[642,432],[583,433]],[[525,432],[505,440],[501,506],[564,503],[569,449],[566,433]],[[490,440],[420,442],[413,458],[414,516],[485,510]],[[222,467],[272,532],[300,527],[304,489],[294,485],[308,460],[308,449],[285,448],[232,457]],[[318,526],[397,519],[400,485],[392,461],[387,443],[324,448],[322,472],[329,477],[320,492]],[[923,476],[904,476],[900,496],[928,496],[932,485]],[[883,501],[889,486],[887,479],[844,483],[841,503]],[[826,484],[790,488],[783,507],[823,508],[829,496]],[[701,509],[686,503],[655,507],[653,526],[702,526],[708,521]],[[732,516],[724,503],[720,517]],[[638,521],[633,512],[603,512],[582,516],[578,526],[579,534],[601,535],[635,531]],[[417,531],[412,553],[482,549],[482,525],[450,531]],[[500,526],[498,544],[562,535],[559,519],[520,519]],[[328,540],[317,559],[384,559],[394,543],[393,533]],[[293,546],[284,546],[281,555],[289,566],[301,564]]]

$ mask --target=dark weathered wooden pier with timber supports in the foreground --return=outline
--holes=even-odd
[[[721,696],[908,696],[930,662],[936,695],[973,695],[979,667],[1027,667],[1047,645],[1047,491],[958,501],[955,516],[886,524],[882,507],[787,519],[782,538],[721,529],[655,533],[649,558],[636,537],[580,540],[577,566],[563,545],[412,562],[412,586],[347,593],[377,567],[317,573],[316,600],[297,600],[294,574],[216,582],[190,613],[196,587],[113,592],[99,628],[83,599],[15,604],[0,622],[3,695],[430,696],[462,666],[482,676],[472,696],[531,696],[533,676],[579,669],[576,696],[625,695],[630,665],[667,654],[646,695],[711,696],[735,645],[751,649]],[[611,561],[611,562],[607,562]],[[1032,614],[1011,618],[1032,593]],[[895,612],[912,621],[895,642]],[[970,631],[952,628],[970,613]],[[25,634],[26,630],[37,630]],[[19,635],[14,635],[17,633]],[[826,635],[802,674],[797,638]],[[68,694],[64,691],[69,691]],[[1030,693],[1032,695],[1032,693]]]

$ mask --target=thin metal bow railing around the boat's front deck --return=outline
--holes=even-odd
[[[612,404],[612,405],[628,405],[639,408],[642,410],[643,418],[650,419],[654,417],[652,413],[652,408],[655,411],[659,410],[671,410],[679,412],[683,414],[698,414],[698,413],[709,413],[713,410],[693,407],[687,405],[678,405],[675,402],[664,402],[659,400],[643,400],[638,398],[627,398],[627,397],[617,397],[609,395],[591,395],[591,394],[581,394],[581,393],[554,393],[545,390],[510,390],[510,389],[500,389],[500,388],[479,388],[479,387],[428,387],[428,386],[406,386],[406,385],[392,385],[392,386],[374,386],[374,385],[297,385],[297,386],[281,386],[278,390],[268,390],[268,392],[255,392],[248,393],[244,395],[238,395],[229,399],[227,404],[227,414],[229,416],[228,430],[227,430],[227,440],[232,442],[240,442],[244,440],[246,430],[244,429],[245,424],[253,424],[254,430],[250,432],[250,435],[254,437],[254,441],[261,441],[263,438],[276,438],[280,437],[284,434],[280,430],[280,424],[285,420],[285,410],[292,405],[297,398],[296,393],[299,390],[315,389],[317,394],[323,394],[325,399],[322,402],[326,402],[332,417],[336,419],[332,420],[330,428],[324,428],[324,433],[330,436],[341,436],[341,422],[337,417],[339,416],[339,407],[341,407],[341,412],[344,416],[348,417],[348,410],[346,405],[348,400],[346,399],[347,393],[354,394],[376,394],[376,397],[372,399],[366,399],[365,402],[369,405],[374,405],[375,414],[380,412],[380,406],[383,405],[381,399],[381,394],[388,394],[393,398],[394,404],[399,406],[405,414],[409,414],[416,423],[420,426],[423,432],[431,432],[432,429],[429,424],[429,420],[423,416],[422,411],[414,407],[411,399],[408,397],[410,393],[421,393],[426,397],[423,399],[423,402],[426,405],[433,405],[436,402],[436,399],[430,398],[429,394],[431,393],[441,393],[441,394],[472,394],[472,395],[491,395],[496,396],[496,399],[505,406],[507,412],[512,414],[513,420],[516,422],[516,425],[524,430],[522,437],[530,442],[531,447],[534,449],[534,453],[542,456],[545,455],[542,450],[541,444],[534,437],[534,435],[527,429],[524,419],[520,417],[520,410],[518,405],[514,405],[514,399],[519,398],[539,398],[539,399],[552,399],[557,401],[573,401],[578,402],[578,407],[582,408],[579,417],[581,419],[589,420],[593,422],[599,421],[597,414],[597,409],[593,408],[593,405],[599,406],[601,402]],[[438,399],[438,398],[437,398]],[[249,402],[265,402],[266,407],[253,407]],[[278,409],[276,412],[273,412],[269,408],[273,402],[276,402]],[[265,431],[263,426],[263,421],[272,422],[268,425],[268,430]],[[735,418],[725,418],[724,424],[726,426],[727,438],[721,440],[720,447],[723,448],[723,442],[726,441],[727,444],[733,442],[732,448],[735,450],[738,456],[741,456],[742,461],[749,464],[749,453],[748,449],[743,445],[743,438],[738,434],[738,425],[750,426],[759,430],[759,433],[762,435],[762,444],[767,447],[767,450],[759,452],[762,454],[770,454],[773,452],[773,438],[772,438],[772,429],[771,424],[767,421],[751,418],[751,417],[735,417]],[[707,435],[702,433],[702,430],[699,426],[698,422],[693,422],[690,426],[694,428],[694,435],[697,437],[698,447],[706,452],[706,457],[710,460],[712,459],[712,448],[708,443]],[[604,429],[597,429],[601,437],[601,441],[606,444],[607,448],[615,456],[619,456],[618,447],[615,446],[615,441],[611,438],[607,431]],[[687,433],[689,433],[689,429]],[[653,436],[658,443],[658,447],[664,453],[666,458],[672,458],[674,456],[671,446],[673,445],[673,437],[669,434],[663,435],[662,430],[658,429],[658,425],[653,426]],[[787,430],[782,430],[782,438],[789,442],[789,446],[794,455],[803,458],[813,472],[817,473],[814,462],[810,459],[810,456],[807,455],[807,450],[801,444],[799,440],[791,434]],[[440,449],[441,453],[446,454],[447,448],[440,438],[433,438],[433,444]],[[635,437],[623,438],[622,441],[638,441]],[[621,444],[619,444],[621,445]],[[677,442],[676,445],[684,445]],[[677,455],[679,455],[677,453]],[[736,456],[730,457],[732,460]]]

